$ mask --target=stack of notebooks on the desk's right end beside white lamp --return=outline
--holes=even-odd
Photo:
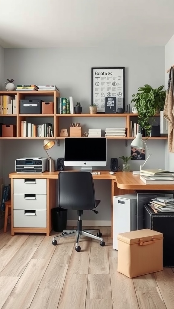
[[[174,184],[174,172],[159,168],[141,170],[140,179],[145,184]]]

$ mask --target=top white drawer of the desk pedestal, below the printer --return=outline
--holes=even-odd
[[[46,179],[24,178],[13,180],[14,194],[46,194]]]

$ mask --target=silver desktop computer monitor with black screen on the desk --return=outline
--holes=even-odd
[[[65,138],[64,165],[80,166],[82,171],[107,165],[107,139],[105,137]]]

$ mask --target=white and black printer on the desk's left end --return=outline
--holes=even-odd
[[[48,169],[48,159],[42,157],[15,160],[16,173],[43,173]]]

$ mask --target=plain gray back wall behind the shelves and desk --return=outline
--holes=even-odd
[[[82,103],[83,112],[88,112],[91,104],[91,67],[125,67],[125,105],[130,104],[131,96],[137,88],[148,83],[152,87],[164,85],[163,74],[164,48],[121,48],[113,46],[101,48],[77,49],[4,49],[4,80],[15,79],[17,84],[56,84],[63,97],[73,96],[74,102]],[[132,107],[132,106],[131,106]],[[89,119],[79,120],[83,128],[115,126],[115,120]],[[69,126],[70,121],[65,124]],[[75,120],[74,120],[75,122]],[[117,125],[125,125],[125,120],[118,118]],[[23,156],[46,156],[41,140],[11,140],[4,141],[5,177],[15,169],[15,159]],[[130,142],[125,146],[124,140],[108,140],[107,167],[110,169],[110,158],[130,155]],[[152,156],[148,160],[148,168],[164,168],[165,142],[147,142]],[[63,156],[64,142],[49,150],[54,159]],[[11,150],[12,153],[11,153]],[[141,161],[143,164],[144,161]],[[121,161],[119,159],[119,164]],[[131,161],[131,169],[139,170],[139,161]],[[111,220],[111,185],[109,180],[96,180],[96,197],[101,199],[99,214],[86,212],[86,220]],[[74,212],[69,213],[69,219],[76,219]]]

